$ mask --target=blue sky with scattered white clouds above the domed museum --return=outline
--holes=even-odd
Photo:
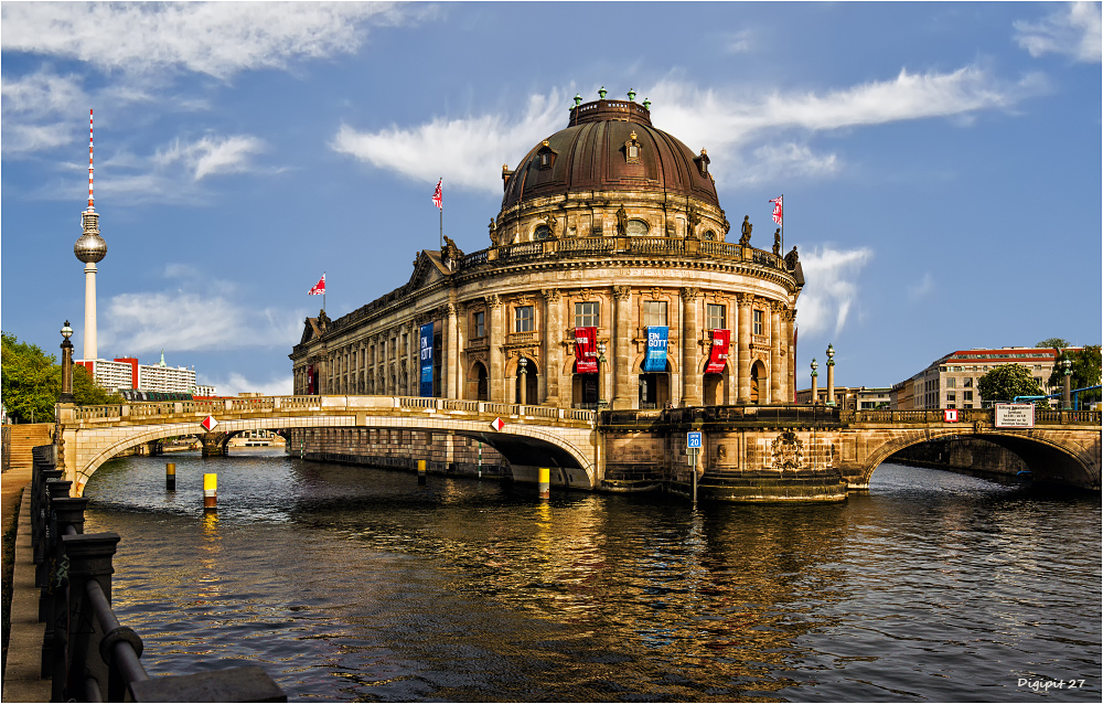
[[[601,86],[708,149],[733,222],[784,193],[802,387],[828,342],[877,386],[1103,337],[1100,3],[4,2],[0,44],[0,314],[50,351],[83,349],[88,108],[100,356],[290,393],[323,270],[333,318],[404,284],[440,178],[485,247],[502,164]]]

